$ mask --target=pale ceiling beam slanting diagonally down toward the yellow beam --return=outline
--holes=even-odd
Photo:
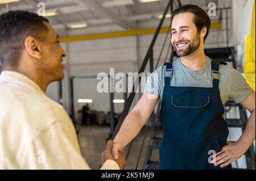
[[[120,18],[117,14],[114,14],[114,12],[106,9],[105,7],[101,6],[100,4],[92,0],[75,0],[74,2],[81,6],[86,6],[89,10],[93,11],[94,13],[101,14],[106,18],[110,18],[115,24],[118,24],[118,26],[121,26],[126,30],[130,30],[134,27],[133,24],[127,22],[125,19]]]

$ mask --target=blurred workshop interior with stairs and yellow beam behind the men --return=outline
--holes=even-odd
[[[139,92],[129,93],[132,87],[128,87],[125,93],[100,93],[98,75],[105,73],[112,89],[118,79],[111,81],[110,68],[115,74],[152,73],[165,62],[176,60],[170,43],[171,11],[186,4],[200,6],[212,14],[205,54],[227,62],[246,76],[245,37],[251,31],[254,0],[0,0],[0,14],[10,10],[38,12],[45,5],[45,16],[67,52],[64,79],[51,83],[46,94],[68,112],[81,153],[92,169],[98,169],[106,140],[115,135],[143,94],[143,83]],[[216,12],[212,11],[215,6]],[[123,150],[129,155],[125,169],[159,169],[159,105],[132,144]],[[88,110],[84,122],[85,108]],[[228,140],[237,141],[249,111],[233,102],[228,102],[225,110]],[[232,167],[255,169],[255,141]]]

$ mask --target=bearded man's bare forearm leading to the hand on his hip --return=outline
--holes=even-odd
[[[255,140],[255,109],[251,112],[251,115],[247,121],[246,128],[242,133],[242,136],[238,139],[237,143],[242,146],[244,151],[250,147]]]

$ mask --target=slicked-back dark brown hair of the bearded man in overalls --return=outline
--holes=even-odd
[[[184,5],[172,12],[172,19],[174,16],[183,12],[192,12],[194,14],[193,22],[196,25],[197,32],[200,32],[203,27],[207,27],[207,33],[204,36],[204,41],[207,39],[210,30],[210,18],[207,13],[196,5]]]

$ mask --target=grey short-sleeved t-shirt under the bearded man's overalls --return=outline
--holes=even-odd
[[[192,71],[186,68],[177,58],[172,63],[174,69],[171,86],[175,87],[212,87],[211,60],[207,57],[207,64],[201,70]],[[162,99],[164,89],[164,73],[166,66],[156,69],[147,79],[144,92],[160,95]],[[228,100],[240,103],[253,91],[242,74],[230,65],[220,64],[219,89],[222,104]]]

